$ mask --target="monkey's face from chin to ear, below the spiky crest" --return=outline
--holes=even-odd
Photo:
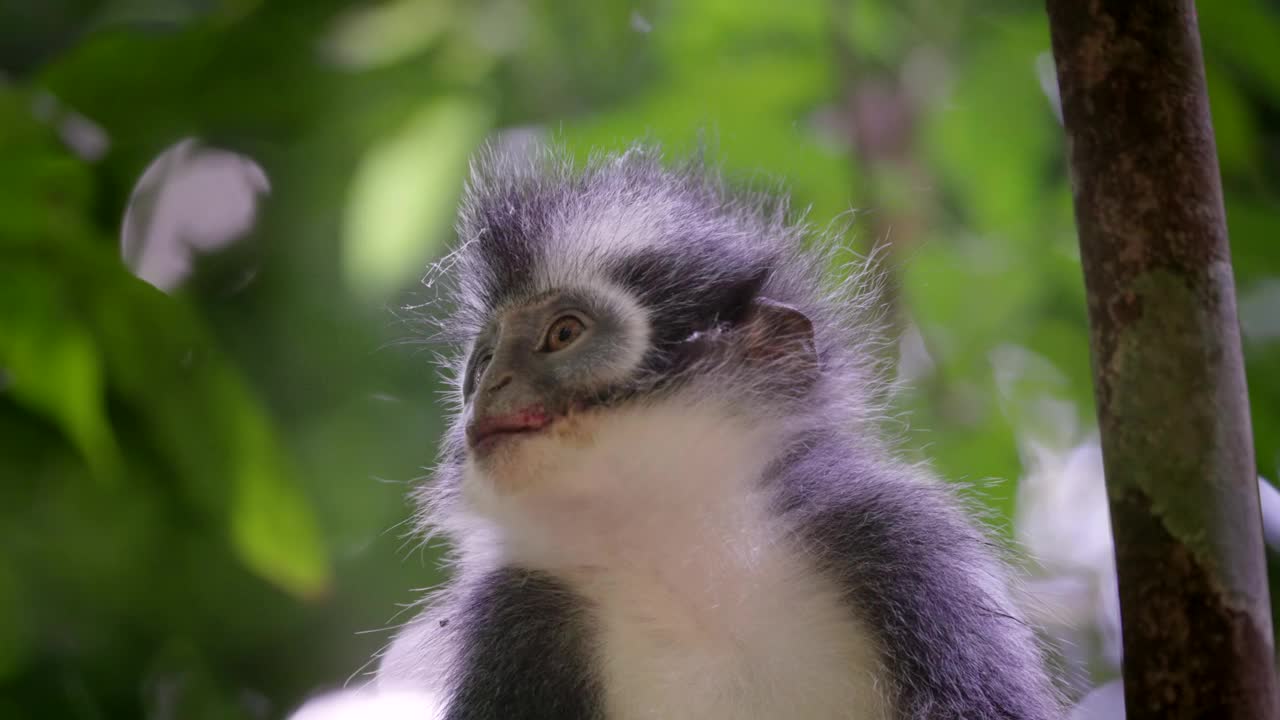
[[[636,455],[667,452],[669,443],[655,438],[687,424],[673,415],[690,416],[692,406],[701,406],[692,415],[718,424],[707,415],[712,406],[727,415],[753,393],[765,404],[794,397],[817,377],[812,325],[755,296],[755,286],[675,310],[596,282],[499,309],[475,338],[463,375],[472,469],[506,492],[563,479],[585,464],[609,471]],[[696,329],[671,337],[671,327]]]

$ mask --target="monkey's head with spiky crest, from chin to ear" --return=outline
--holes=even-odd
[[[447,264],[462,484],[586,484],[684,454],[662,442],[695,433],[686,416],[768,415],[808,392],[812,288],[781,220],[753,208],[643,154],[580,178],[481,169]]]

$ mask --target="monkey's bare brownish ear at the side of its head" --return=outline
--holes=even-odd
[[[808,387],[818,377],[818,347],[813,320],[777,300],[756,297],[741,323],[748,360],[786,370],[788,379]]]

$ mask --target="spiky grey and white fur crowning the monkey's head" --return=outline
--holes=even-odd
[[[735,413],[768,420],[773,432],[820,423],[878,436],[878,278],[865,265],[837,268],[847,256],[842,237],[797,220],[785,196],[731,190],[701,159],[664,165],[657,147],[596,155],[581,168],[553,150],[483,150],[460,211],[460,245],[428,281],[443,290],[438,306],[451,310],[435,320],[453,347],[442,360],[454,407],[439,477],[421,496],[428,529],[447,528],[457,510],[471,340],[495,311],[549,290],[604,288],[643,320],[648,347],[618,383],[625,404],[677,393],[690,405],[731,400]],[[733,352],[673,366],[672,348],[717,332],[718,311],[750,300],[735,297],[742,293],[813,322],[820,375],[803,392],[777,382],[785,364],[772,373]]]

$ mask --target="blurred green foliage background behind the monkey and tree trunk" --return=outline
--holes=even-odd
[[[1275,479],[1280,4],[1199,22]],[[442,577],[406,307],[468,155],[636,138],[882,246],[908,451],[1036,553],[1071,694],[1114,680],[1039,4],[0,0],[0,717],[282,717],[364,682]]]

